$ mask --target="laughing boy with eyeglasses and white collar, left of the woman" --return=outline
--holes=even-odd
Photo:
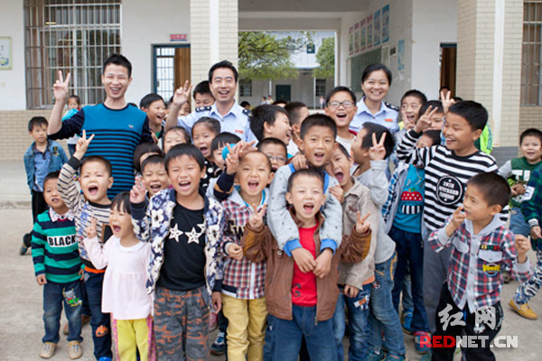
[[[346,87],[335,87],[325,100],[324,112],[330,116],[337,125],[335,141],[342,144],[350,153],[355,134],[350,132],[350,122],[358,111],[356,95]]]

